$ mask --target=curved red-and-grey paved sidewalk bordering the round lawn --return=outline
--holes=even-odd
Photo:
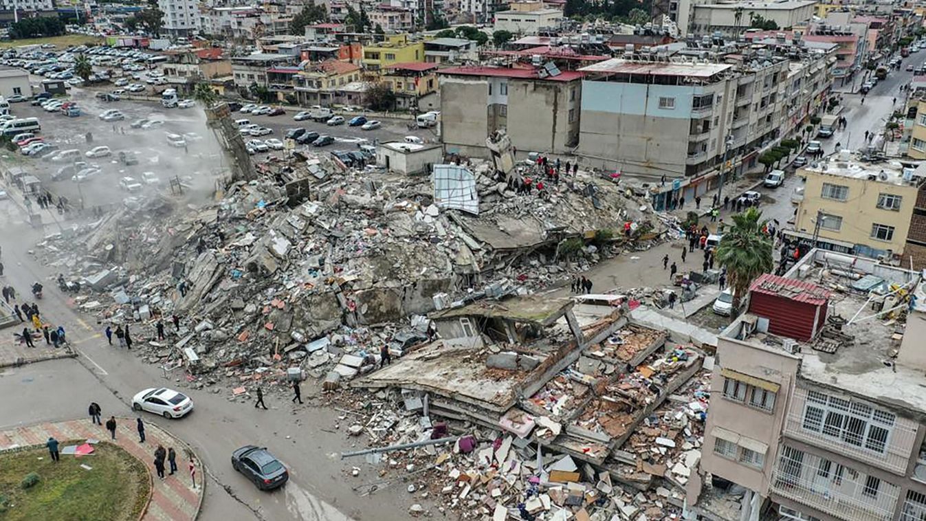
[[[104,423],[107,417],[103,418]],[[196,458],[196,488],[194,489],[187,470],[189,460],[184,452],[187,445],[183,441],[174,438],[156,425],[146,422],[144,431],[146,440],[144,443],[139,443],[134,418],[119,417],[116,421],[119,427],[116,429],[115,443],[144,462],[152,476],[151,501],[142,519],[144,521],[193,521],[203,504],[204,496],[202,479],[205,472],[199,458]],[[112,442],[109,440],[109,432],[106,428],[93,425],[88,416],[80,420],[43,423],[0,432],[0,452],[29,445],[44,447],[45,440],[48,440],[50,436],[54,436],[59,441],[95,438]],[[154,453],[158,443],[164,445],[165,449],[172,446],[177,451],[177,466],[180,467],[179,475],[169,476],[163,481],[155,474]],[[70,456],[64,455],[63,457]]]

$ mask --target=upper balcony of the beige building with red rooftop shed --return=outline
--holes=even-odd
[[[819,394],[819,393],[814,393]],[[832,399],[832,397],[831,397]],[[807,391],[795,391],[795,400],[784,422],[784,435],[795,440],[802,440],[811,445],[826,449],[832,453],[842,454],[859,462],[877,466],[898,476],[905,476],[907,465],[913,457],[916,443],[917,424],[902,417],[894,417],[892,425],[872,422],[857,415],[842,414],[827,409],[826,420],[814,420],[804,415]],[[853,403],[855,410],[860,403]],[[817,403],[809,403],[817,407]],[[863,405],[866,406],[867,405]],[[821,408],[826,408],[821,406]],[[878,411],[875,411],[877,416]],[[831,423],[845,416],[845,424]],[[825,425],[820,425],[823,422]],[[886,440],[874,439],[866,429],[880,427],[888,432]],[[855,431],[854,431],[855,428]],[[855,433],[858,432],[858,433]]]

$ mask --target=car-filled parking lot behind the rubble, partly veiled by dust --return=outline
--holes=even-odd
[[[149,90],[150,86],[147,87]],[[198,106],[192,108],[164,108],[156,101],[127,100],[105,102],[95,94],[109,92],[112,89],[70,90],[70,99],[81,107],[81,116],[69,118],[60,111],[45,112],[41,106],[29,102],[11,104],[13,115],[17,118],[39,118],[42,130],[39,132],[46,143],[56,145],[57,151],[77,149],[81,154],[77,158],[52,162],[52,156],[42,159],[21,155],[19,152],[7,153],[7,162],[26,167],[43,182],[44,188],[57,195],[64,195],[74,205],[84,207],[107,207],[119,205],[127,197],[150,196],[157,191],[167,190],[169,180],[179,178],[183,184],[193,190],[210,192],[214,188],[215,175],[225,166],[224,155],[219,144],[206,128],[206,116]],[[103,121],[99,115],[107,110],[119,110],[124,119]],[[286,131],[293,128],[306,128],[322,135],[331,135],[334,143],[318,148],[299,146],[320,153],[341,150],[357,150],[365,143],[401,140],[404,136],[415,135],[425,140],[436,139],[432,130],[408,130],[409,119],[381,119],[382,127],[377,130],[361,130],[346,124],[329,127],[324,122],[294,121],[294,112],[284,115],[252,116],[235,114],[234,118],[246,118],[250,122],[266,127],[272,132],[260,137],[245,136],[244,141],[269,139],[282,140]],[[132,128],[132,123],[139,119],[156,122],[152,128]],[[188,136],[183,145],[169,143],[169,134]],[[88,141],[92,140],[92,141]],[[98,146],[106,146],[110,155],[86,157],[86,153]],[[119,161],[120,152],[134,153],[138,163],[126,165]],[[269,150],[254,155],[260,160],[269,154],[283,154],[282,151]],[[83,163],[86,163],[84,165]],[[66,171],[61,172],[62,167]],[[84,168],[98,167],[99,172],[81,182],[72,180],[73,174]],[[56,173],[58,175],[56,175]],[[136,181],[122,181],[123,178]],[[143,177],[153,182],[145,183]],[[121,186],[120,186],[121,185]],[[127,190],[131,187],[131,192]]]

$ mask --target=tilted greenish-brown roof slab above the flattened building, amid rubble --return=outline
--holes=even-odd
[[[504,301],[482,300],[472,304],[439,311],[432,315],[435,320],[457,316],[482,316],[505,318],[516,322],[533,322],[548,326],[566,314],[572,307],[569,299],[551,299],[544,296],[526,295],[511,297]]]

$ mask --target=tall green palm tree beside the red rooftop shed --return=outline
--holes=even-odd
[[[733,216],[733,225],[724,232],[717,246],[717,262],[727,269],[727,279],[733,290],[733,307],[749,290],[749,284],[759,275],[771,271],[771,238],[762,231],[768,219],[762,212],[748,208]]]

